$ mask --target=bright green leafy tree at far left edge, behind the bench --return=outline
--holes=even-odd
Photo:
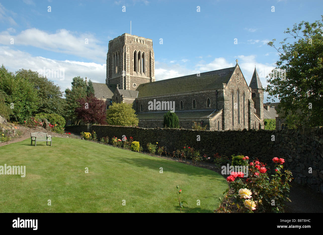
[[[26,81],[20,74],[8,72],[4,65],[0,68],[0,90],[7,95],[6,104],[13,106],[11,121],[22,124],[37,112],[39,97],[33,84]]]

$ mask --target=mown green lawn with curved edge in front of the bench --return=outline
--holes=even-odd
[[[81,139],[52,145],[26,139],[0,147],[0,166],[26,166],[24,178],[0,175],[0,212],[178,212],[177,184],[184,212],[212,212],[227,188],[208,169]]]

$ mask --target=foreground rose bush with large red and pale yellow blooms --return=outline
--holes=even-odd
[[[243,176],[235,174],[236,172],[227,178],[227,181],[231,182],[230,187],[234,189],[233,196],[236,198],[234,203],[240,211],[253,212],[256,209],[257,212],[284,212],[285,201],[290,201],[288,182],[292,180],[292,172],[289,170],[281,172],[285,162],[283,158],[273,158],[273,162],[276,166],[271,179],[268,177],[266,164],[258,160],[250,163],[249,178],[243,179]],[[243,199],[237,200],[238,196]]]

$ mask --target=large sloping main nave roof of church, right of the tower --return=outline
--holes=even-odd
[[[223,83],[228,83],[234,67],[214,70],[196,74],[165,79],[156,82],[140,84],[136,89],[138,97],[159,96],[179,92],[190,92],[205,89],[223,87]]]

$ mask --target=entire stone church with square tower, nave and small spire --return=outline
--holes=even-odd
[[[93,83],[95,96],[107,108],[112,102],[132,104],[145,128],[162,128],[170,104],[182,128],[192,128],[193,121],[208,130],[264,128],[264,91],[256,69],[249,86],[238,60],[231,68],[161,81],[154,72],[152,40],[125,33],[109,41],[106,83]]]

